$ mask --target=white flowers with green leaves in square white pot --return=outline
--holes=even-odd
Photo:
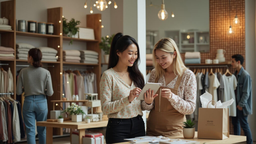
[[[82,114],[85,115],[85,112],[81,109],[81,107],[76,105],[74,102],[72,102],[71,106],[68,106],[65,109],[65,112],[68,112],[69,115],[72,116],[72,122],[82,121]]]

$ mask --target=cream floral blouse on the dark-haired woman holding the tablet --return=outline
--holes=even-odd
[[[101,109],[108,118],[133,118],[143,115],[141,101],[136,98],[130,103],[128,96],[134,83],[129,86],[118,73],[110,68],[102,74],[100,81]]]

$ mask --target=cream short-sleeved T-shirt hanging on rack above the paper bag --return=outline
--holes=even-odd
[[[212,100],[218,101],[217,97],[217,88],[220,86],[218,78],[215,74],[208,76],[209,77],[209,93],[212,95]]]

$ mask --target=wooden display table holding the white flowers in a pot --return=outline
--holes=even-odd
[[[70,129],[78,129],[79,143],[82,144],[83,136],[85,135],[85,129],[87,128],[99,128],[106,127],[108,124],[107,120],[98,121],[98,122],[90,122],[89,124],[85,121],[82,122],[71,122],[64,121],[63,123],[58,122],[47,122],[47,121],[38,121],[36,122],[37,126],[46,127],[46,143],[52,143],[52,128],[70,128]],[[71,135],[72,131],[70,131],[70,143],[71,143]]]

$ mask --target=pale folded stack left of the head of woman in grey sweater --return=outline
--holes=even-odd
[[[26,43],[16,43],[16,59],[27,60],[28,51],[34,46]]]

